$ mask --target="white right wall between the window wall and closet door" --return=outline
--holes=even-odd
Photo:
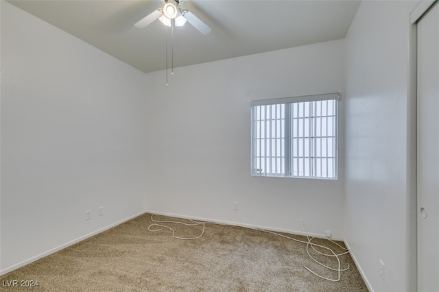
[[[407,106],[408,15],[416,3],[363,1],[346,36],[346,242],[374,291],[416,291],[414,108]]]

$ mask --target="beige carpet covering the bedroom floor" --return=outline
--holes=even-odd
[[[154,216],[154,219],[169,217]],[[185,219],[175,219],[189,222]],[[2,291],[368,291],[349,254],[341,256],[338,282],[322,280],[336,271],[307,256],[306,244],[237,226],[206,225],[200,239],[175,239],[171,230],[148,231],[151,215],[141,215],[106,232],[0,277],[38,280],[38,287],[1,287]],[[195,237],[202,226],[165,223],[176,236]],[[304,236],[293,236],[306,240]],[[318,239],[336,253],[333,243]],[[331,267],[337,260],[312,254]]]

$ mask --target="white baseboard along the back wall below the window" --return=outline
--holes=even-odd
[[[298,231],[298,230],[287,230],[287,229],[281,229],[281,228],[272,228],[272,227],[268,227],[268,226],[257,226],[257,225],[232,222],[232,221],[222,221],[222,220],[215,220],[215,219],[209,219],[209,218],[190,217],[190,216],[185,216],[185,215],[172,214],[172,213],[166,213],[166,212],[156,212],[156,211],[151,211],[151,210],[147,210],[146,212],[151,213],[151,214],[156,214],[156,215],[164,215],[164,216],[183,218],[183,219],[193,219],[193,220],[198,220],[198,221],[207,221],[207,222],[220,223],[220,224],[226,224],[226,225],[232,225],[232,226],[241,226],[241,227],[251,228],[251,229],[263,229],[263,230],[268,230],[268,231],[273,231],[273,232],[285,232],[285,233],[289,233],[289,234],[302,235],[302,236],[307,235],[306,232]],[[319,239],[329,239],[324,234],[308,233],[308,236],[309,237],[316,237]],[[330,239],[333,241],[344,241],[344,238],[342,238],[340,236],[332,236]]]

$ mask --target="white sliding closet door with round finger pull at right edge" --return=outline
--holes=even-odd
[[[418,291],[439,291],[439,4],[418,21]]]

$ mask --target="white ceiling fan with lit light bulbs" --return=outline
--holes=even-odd
[[[185,25],[186,21],[191,23],[193,27],[198,29],[202,34],[206,35],[211,32],[211,27],[202,22],[197,16],[186,9],[182,9],[185,0],[161,0],[163,8],[158,8],[151,14],[134,24],[135,27],[143,28],[150,25],[158,19],[164,25],[170,27],[174,22],[176,27]]]

